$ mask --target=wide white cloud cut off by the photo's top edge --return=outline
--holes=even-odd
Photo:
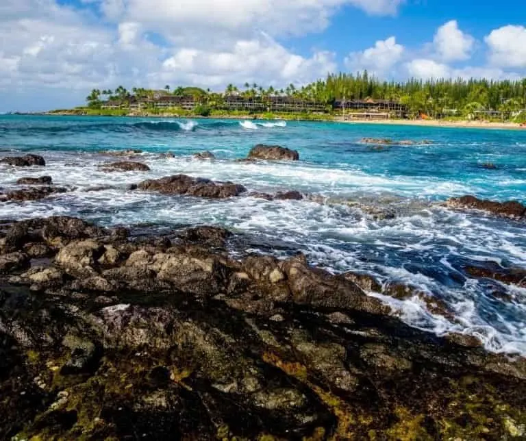
[[[272,36],[304,35],[325,29],[338,8],[353,6],[368,14],[395,14],[405,0],[90,0],[99,1],[110,19],[137,21],[162,29],[175,40],[200,33],[234,32],[246,38],[255,29]]]

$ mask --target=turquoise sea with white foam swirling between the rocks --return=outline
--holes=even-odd
[[[375,149],[360,142],[364,137],[432,144]],[[258,143],[297,149],[301,161],[235,161]],[[75,187],[55,199],[3,203],[0,218],[67,214],[105,225],[223,225],[252,238],[246,251],[278,256],[303,251],[310,262],[334,272],[361,270],[386,283],[411,283],[446,301],[456,316],[434,316],[418,299],[384,299],[411,325],[438,334],[471,333],[492,351],[526,353],[526,290],[483,283],[464,272],[466,265],[484,262],[526,268],[523,224],[452,212],[439,204],[463,194],[526,202],[526,130],[0,116],[0,149],[1,155],[32,151],[47,160],[38,171],[0,166],[3,188],[19,177],[42,174]],[[118,149],[145,151],[138,160],[151,172],[99,171],[97,164],[112,158],[97,152]],[[192,159],[192,153],[204,150],[218,159]],[[175,158],[159,154],[168,151]],[[497,168],[484,168],[488,162]],[[309,197],[202,201],[126,190],[143,179],[177,173],[230,180],[249,190],[300,190]],[[513,301],[494,297],[497,288]]]

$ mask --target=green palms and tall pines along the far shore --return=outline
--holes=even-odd
[[[133,88],[128,92],[123,86],[115,90],[94,89],[88,95],[88,110],[100,110],[107,100],[118,101],[119,107],[130,107],[133,100],[151,101],[159,90]],[[405,116],[428,115],[449,119],[507,119],[516,122],[526,120],[526,78],[522,80],[494,81],[488,79],[409,79],[404,82],[381,81],[365,71],[355,75],[340,73],[328,75],[312,84],[286,88],[264,88],[258,84],[245,83],[238,88],[229,84],[223,92],[212,92],[197,87],[171,87],[162,90],[166,95],[191,97],[195,101],[193,110],[180,109],[177,114],[218,116],[234,114],[235,110],[224,110],[222,104],[227,97],[242,97],[249,101],[270,103],[272,97],[288,97],[325,106],[324,113],[335,114],[334,103],[359,100],[382,100],[400,103]],[[119,108],[118,110],[122,110]],[[168,109],[146,108],[149,114],[167,112]],[[247,114],[247,112],[242,112]],[[258,113],[258,112],[251,112]],[[307,112],[309,113],[309,112]]]

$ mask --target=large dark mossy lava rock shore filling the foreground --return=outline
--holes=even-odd
[[[74,218],[8,237],[0,439],[525,436],[526,360],[404,325],[360,289],[378,289],[366,275],[234,260],[210,248],[229,237],[214,227],[175,246]],[[20,250],[40,243],[55,261],[20,275]]]

